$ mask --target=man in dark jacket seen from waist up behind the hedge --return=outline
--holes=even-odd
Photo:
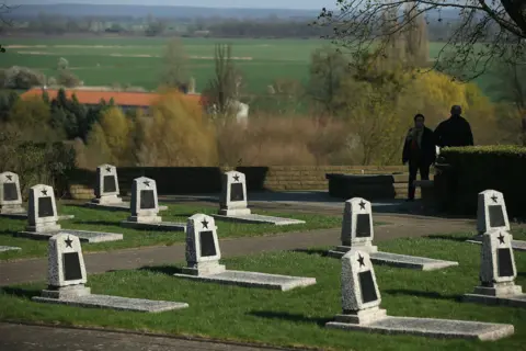
[[[441,122],[435,129],[435,144],[437,146],[471,146],[473,134],[469,122],[462,116],[462,109],[458,105],[451,107],[451,116]]]

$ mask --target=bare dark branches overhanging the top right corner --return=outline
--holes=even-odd
[[[428,22],[437,13],[436,20],[443,22],[444,11],[455,11],[457,25],[433,68],[468,80],[510,52],[517,61],[524,59],[524,0],[338,0],[336,10],[323,8],[315,23],[332,26],[333,34],[327,37],[355,57],[365,52],[385,55],[390,37],[411,31],[414,18],[425,15]]]

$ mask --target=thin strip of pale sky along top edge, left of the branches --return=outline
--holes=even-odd
[[[92,3],[92,4],[148,4],[188,5],[207,8],[253,8],[253,9],[305,9],[332,8],[335,0],[7,0],[9,4],[44,3]]]

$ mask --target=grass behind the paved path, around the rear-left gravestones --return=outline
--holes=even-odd
[[[168,205],[169,210],[160,213],[164,222],[183,222],[196,213],[211,215],[217,208],[209,206]],[[93,231],[122,233],[123,240],[99,244],[84,244],[84,251],[105,251],[124,248],[136,248],[156,245],[172,245],[185,240],[182,231],[147,231],[121,227],[119,223],[129,215],[127,212],[111,212],[80,207],[78,205],[59,205],[60,215],[75,215],[73,219],[60,220],[65,229],[81,229]],[[304,219],[305,225],[274,226],[259,224],[237,224],[217,220],[218,235],[220,238],[264,236],[285,231],[305,231],[311,229],[340,227],[341,216],[310,215],[310,214],[287,214],[276,212],[258,211],[259,214],[268,214],[282,217]],[[44,257],[47,254],[47,240],[32,240],[28,238],[15,238],[13,234],[24,230],[25,219],[0,218],[0,245],[15,246],[22,248],[18,251],[0,253],[0,260],[22,259],[32,257]]]

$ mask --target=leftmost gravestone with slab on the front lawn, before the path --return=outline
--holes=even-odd
[[[135,312],[163,312],[188,307],[185,303],[91,294],[80,240],[59,233],[48,241],[48,287],[32,299],[39,303]]]

